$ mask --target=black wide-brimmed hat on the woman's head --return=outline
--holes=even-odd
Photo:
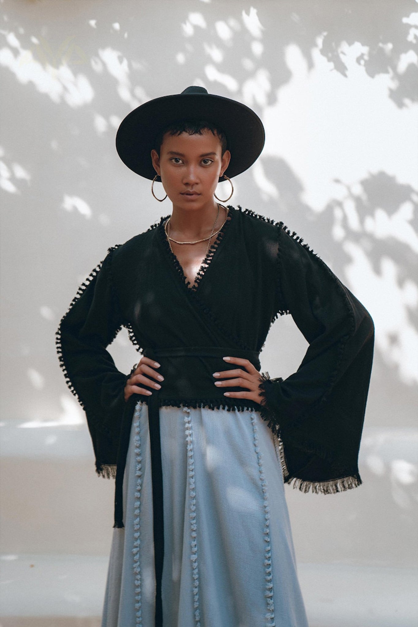
[[[145,102],[122,120],[116,149],[123,163],[140,176],[154,179],[150,153],[156,148],[155,139],[180,120],[204,120],[224,131],[231,152],[224,172],[229,178],[248,169],[263,150],[264,127],[253,110],[231,98],[207,93],[204,87],[187,87],[182,93]]]

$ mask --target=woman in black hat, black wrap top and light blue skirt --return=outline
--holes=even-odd
[[[117,466],[103,627],[305,627],[283,483],[361,483],[370,316],[295,233],[214,196],[263,144],[253,111],[199,87],[118,130],[172,213],[109,250],[58,330],[97,472]],[[269,379],[259,351],[287,313],[310,346]],[[122,325],[143,353],[128,376],[106,350]]]

